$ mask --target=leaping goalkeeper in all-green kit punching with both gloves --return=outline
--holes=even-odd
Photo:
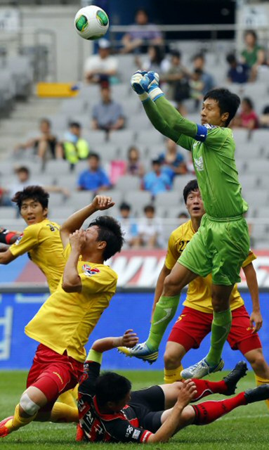
[[[164,331],[176,313],[182,288],[197,276],[212,274],[211,347],[193,371],[194,376],[201,377],[223,368],[221,353],[232,323],[229,298],[233,286],[240,281],[240,268],[249,254],[249,231],[243,216],[248,205],[238,181],[235,141],[227,128],[240,98],[228,89],[209,91],[202,105],[202,125],[197,125],[185,119],[166,100],[158,80],[155,72],[136,72],[131,85],[155,128],[192,151],[206,214],[179,264],[173,266],[164,281],[149,337],[133,353],[155,359]]]

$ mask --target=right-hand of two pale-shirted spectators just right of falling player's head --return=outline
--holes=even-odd
[[[129,203],[121,203],[119,206],[119,223],[121,224],[122,231],[124,232],[124,244],[128,248],[138,247],[140,239],[138,237],[138,225],[131,216],[131,205]]]

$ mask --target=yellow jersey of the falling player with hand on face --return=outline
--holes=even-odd
[[[70,255],[67,245],[64,256]],[[59,354],[84,362],[84,345],[103,311],[110,304],[117,287],[117,274],[104,264],[82,261],[77,264],[81,293],[65,293],[61,278],[58,288],[25,327],[29,338],[41,342]]]

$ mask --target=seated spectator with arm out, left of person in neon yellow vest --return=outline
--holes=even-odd
[[[40,136],[29,139],[25,143],[19,143],[15,147],[15,152],[18,150],[26,150],[27,148],[34,148],[34,153],[39,156],[42,162],[50,158],[60,158],[56,152],[56,137],[51,133],[51,122],[48,119],[41,119],[39,122]]]

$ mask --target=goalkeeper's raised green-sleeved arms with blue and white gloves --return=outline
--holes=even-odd
[[[181,134],[197,141],[204,140],[202,127],[185,119],[166,100],[159,88],[159,75],[156,72],[136,72],[131,77],[131,86],[142,101],[150,122],[164,136],[175,142],[178,142]],[[200,131],[201,136],[199,136]]]

